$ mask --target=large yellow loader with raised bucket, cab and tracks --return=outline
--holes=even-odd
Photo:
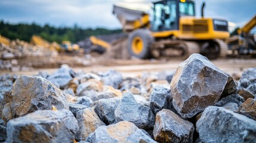
[[[208,58],[225,57],[229,38],[227,20],[195,17],[193,0],[153,2],[153,13],[115,4],[113,14],[128,33],[129,54],[137,58],[188,57],[201,53]]]

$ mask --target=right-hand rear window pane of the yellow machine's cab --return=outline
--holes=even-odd
[[[193,2],[180,2],[179,10],[180,16],[189,15],[195,16],[195,4]]]

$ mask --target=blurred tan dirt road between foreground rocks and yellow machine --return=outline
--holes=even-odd
[[[106,71],[109,69],[115,69],[121,71],[124,77],[130,76],[134,77],[138,74],[141,74],[142,71],[163,71],[169,70],[174,71],[177,69],[178,65],[181,63],[181,60],[169,60],[169,61],[109,61],[110,66],[102,66],[100,64],[87,66],[87,67],[73,67],[73,70],[79,71],[84,70],[89,71]],[[256,67],[256,59],[219,59],[212,60],[212,63],[215,64],[219,69],[226,71],[229,74],[236,74],[240,76],[242,72],[249,67]],[[113,66],[116,65],[116,66]],[[27,75],[33,76],[38,74],[39,70],[48,71],[48,73],[53,73],[56,69],[33,69],[31,71],[0,71],[0,74],[18,74],[18,75]]]

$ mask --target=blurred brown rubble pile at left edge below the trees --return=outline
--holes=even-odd
[[[27,57],[56,57],[55,49],[31,45],[30,43],[15,40],[9,45],[0,43],[0,70],[20,70],[18,59]]]

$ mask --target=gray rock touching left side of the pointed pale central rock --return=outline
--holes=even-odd
[[[118,107],[121,98],[108,98],[98,100],[94,111],[106,125],[115,123],[115,110]]]

